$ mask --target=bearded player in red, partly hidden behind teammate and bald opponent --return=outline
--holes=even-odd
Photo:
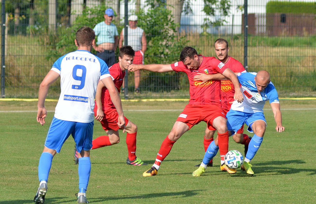
[[[214,48],[215,48],[215,54],[216,54],[217,59],[219,59],[219,61],[224,63],[234,73],[246,72],[245,68],[242,66],[240,62],[238,62],[233,57],[230,57],[228,55],[229,47],[228,47],[227,40],[222,39],[222,38],[217,39],[214,43]],[[210,76],[208,75],[198,74],[194,76],[194,79],[207,82],[208,80],[214,79],[214,76],[215,75],[212,75],[212,78],[210,78]],[[230,106],[232,105],[230,102],[234,101],[235,89],[234,89],[233,83],[230,80],[221,80],[221,91],[222,91],[222,98],[221,98],[222,108],[226,115],[230,109]],[[244,126],[242,126],[240,130],[238,130],[238,132],[235,135],[233,135],[233,139],[237,143],[245,145],[245,155],[246,155],[247,150],[248,150],[248,144],[251,140],[251,137],[249,137],[246,134],[243,134],[243,129],[244,129]],[[206,127],[204,141],[203,141],[205,152],[207,148],[209,147],[210,143],[214,140],[213,139],[214,133],[215,133],[215,129],[212,129],[212,128],[209,129],[208,127]],[[215,141],[215,144],[217,146],[217,141]],[[213,165],[213,160],[211,159],[208,166],[212,166],[212,165]],[[200,165],[196,165],[196,166],[200,166]]]

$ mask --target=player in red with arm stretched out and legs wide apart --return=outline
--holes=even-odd
[[[130,71],[144,69],[153,72],[184,72],[189,79],[190,84],[190,100],[185,106],[183,112],[179,115],[174,123],[171,132],[162,142],[158,151],[154,165],[143,173],[143,176],[154,176],[160,167],[161,162],[170,153],[173,144],[186,131],[191,129],[195,124],[204,121],[208,127],[213,127],[218,131],[218,144],[221,159],[224,160],[225,154],[228,152],[228,131],[225,114],[221,107],[221,83],[220,80],[208,81],[201,85],[201,81],[194,80],[197,73],[222,74],[229,78],[235,86],[239,86],[238,79],[234,72],[220,62],[215,57],[204,57],[198,55],[197,51],[192,47],[185,47],[180,53],[180,60],[174,64],[149,64],[149,65],[130,65]],[[241,91],[236,91],[234,99],[238,102],[243,101]],[[225,165],[228,173],[235,173]]]

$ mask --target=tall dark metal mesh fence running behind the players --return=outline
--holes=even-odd
[[[267,13],[269,0],[231,0],[222,7],[207,2],[2,0],[2,97],[36,98],[52,64],[76,50],[76,30],[81,26],[93,28],[103,21],[106,8],[115,11],[113,23],[119,33],[126,16],[138,16],[138,26],[147,39],[145,64],[174,63],[185,46],[196,48],[204,56],[215,56],[214,41],[224,38],[229,43],[229,55],[248,71],[270,72],[281,96],[316,95],[314,1],[283,1],[305,3],[298,13],[287,13],[288,9]],[[309,13],[304,13],[307,10]],[[188,98],[188,87],[187,77],[181,73],[141,71],[141,93],[135,93],[134,74],[129,73],[125,98]],[[59,91],[57,81],[47,97],[58,98]]]

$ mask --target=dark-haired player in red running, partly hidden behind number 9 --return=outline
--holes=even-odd
[[[119,62],[113,64],[109,68],[112,80],[119,92],[123,84],[125,70],[133,63],[134,55],[135,51],[132,49],[131,46],[122,46],[119,49]],[[117,123],[118,113],[111,101],[109,91],[100,81],[98,83],[97,92],[95,94],[94,116],[96,120],[100,121],[102,128],[105,130],[107,136],[100,136],[92,140],[91,149],[97,149],[100,147],[110,146],[119,143],[120,128]],[[136,157],[137,126],[129,121],[126,117],[124,118],[126,124],[125,131],[127,132],[126,145],[128,151],[126,163],[128,165],[136,166],[147,165],[141,159]]]

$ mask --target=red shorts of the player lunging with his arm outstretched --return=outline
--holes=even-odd
[[[210,126],[213,127],[213,120],[219,116],[225,118],[224,111],[220,106],[188,104],[177,118],[177,121],[187,124],[189,129],[204,121],[210,129]]]

